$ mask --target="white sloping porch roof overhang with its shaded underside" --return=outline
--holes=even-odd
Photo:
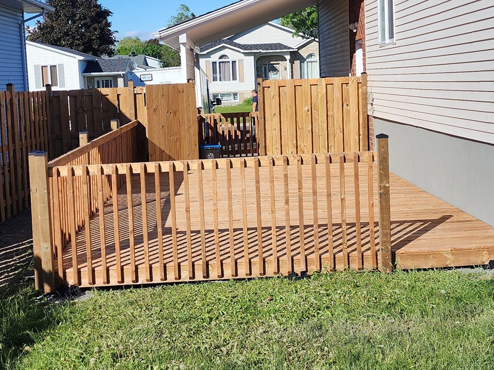
[[[179,37],[187,34],[197,46],[224,39],[235,33],[305,9],[320,0],[241,0],[154,33],[156,39],[180,49]]]

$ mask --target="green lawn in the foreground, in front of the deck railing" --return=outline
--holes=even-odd
[[[484,370],[493,293],[486,275],[454,271],[93,290],[61,304],[24,283],[0,293],[0,360],[7,369]]]

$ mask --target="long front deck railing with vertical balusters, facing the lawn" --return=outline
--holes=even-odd
[[[373,152],[50,166],[49,181],[41,172],[33,181],[33,205],[41,214],[49,204],[35,199],[43,181],[48,194],[64,181],[69,207],[52,202],[40,222],[54,236],[41,233],[45,239],[35,241],[34,254],[43,261],[43,280],[37,282],[50,291],[55,277],[57,283],[104,286],[378,265],[386,270],[386,158],[379,153],[379,171]],[[119,178],[125,183],[117,189]],[[112,184],[106,196],[99,190],[96,212],[94,181]],[[80,216],[83,224],[77,223]],[[69,243],[58,219],[68,220]]]

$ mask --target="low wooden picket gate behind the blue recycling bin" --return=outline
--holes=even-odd
[[[199,115],[199,143],[220,144],[228,157],[259,155],[257,117],[257,112]]]

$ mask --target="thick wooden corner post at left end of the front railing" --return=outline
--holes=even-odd
[[[29,153],[29,182],[31,184],[34,281],[36,289],[43,289],[45,293],[50,293],[55,290],[55,260],[51,233],[48,153],[40,151]]]

